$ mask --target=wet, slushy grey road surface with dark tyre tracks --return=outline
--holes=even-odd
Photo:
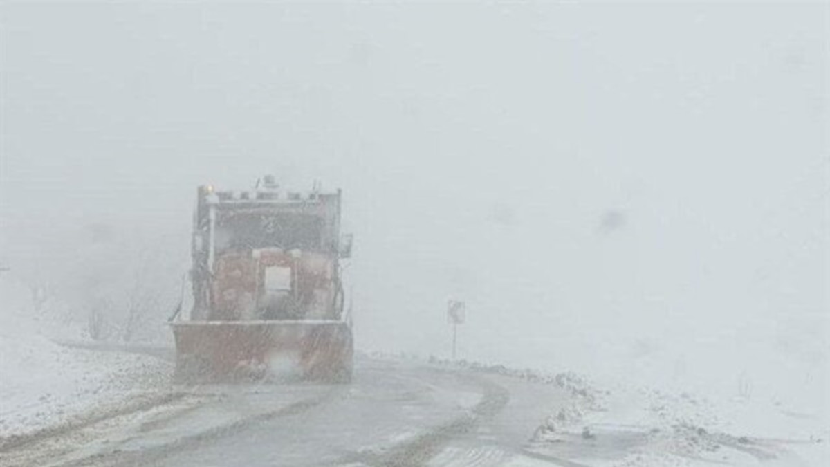
[[[157,403],[0,447],[0,464],[569,465],[526,449],[569,397],[510,376],[364,358],[351,385],[174,386]]]

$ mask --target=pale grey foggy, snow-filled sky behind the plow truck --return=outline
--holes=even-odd
[[[461,358],[826,410],[828,41],[821,3],[3,2],[0,262],[168,342],[196,186],[320,180],[359,350],[448,356],[452,298]]]

